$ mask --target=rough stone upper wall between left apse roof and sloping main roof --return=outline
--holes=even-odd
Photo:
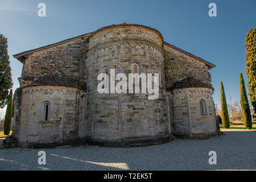
[[[87,39],[76,39],[32,53],[23,62],[20,86],[33,78],[58,74],[86,88]]]

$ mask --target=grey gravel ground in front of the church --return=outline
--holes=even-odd
[[[256,169],[256,132],[226,131],[212,139],[176,139],[147,147],[0,148],[0,170],[215,170]],[[38,164],[38,152],[46,164]],[[209,151],[217,164],[210,165]]]

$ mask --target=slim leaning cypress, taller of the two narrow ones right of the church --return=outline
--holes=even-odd
[[[245,82],[243,81],[243,75],[240,73],[240,104],[243,114],[243,122],[245,123],[245,127],[247,129],[251,129],[253,127],[253,123],[251,121],[251,111],[250,106],[248,102],[248,97],[246,94],[246,88],[245,88]]]

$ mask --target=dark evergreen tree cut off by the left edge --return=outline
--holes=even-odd
[[[9,89],[13,86],[7,48],[7,38],[0,34],[0,108],[10,100]]]

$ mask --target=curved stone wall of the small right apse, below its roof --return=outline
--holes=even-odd
[[[167,96],[172,98],[169,105],[172,134],[187,137],[217,134],[212,93],[213,90],[209,88],[174,89],[168,92]],[[205,115],[201,115],[201,100],[205,101]]]

